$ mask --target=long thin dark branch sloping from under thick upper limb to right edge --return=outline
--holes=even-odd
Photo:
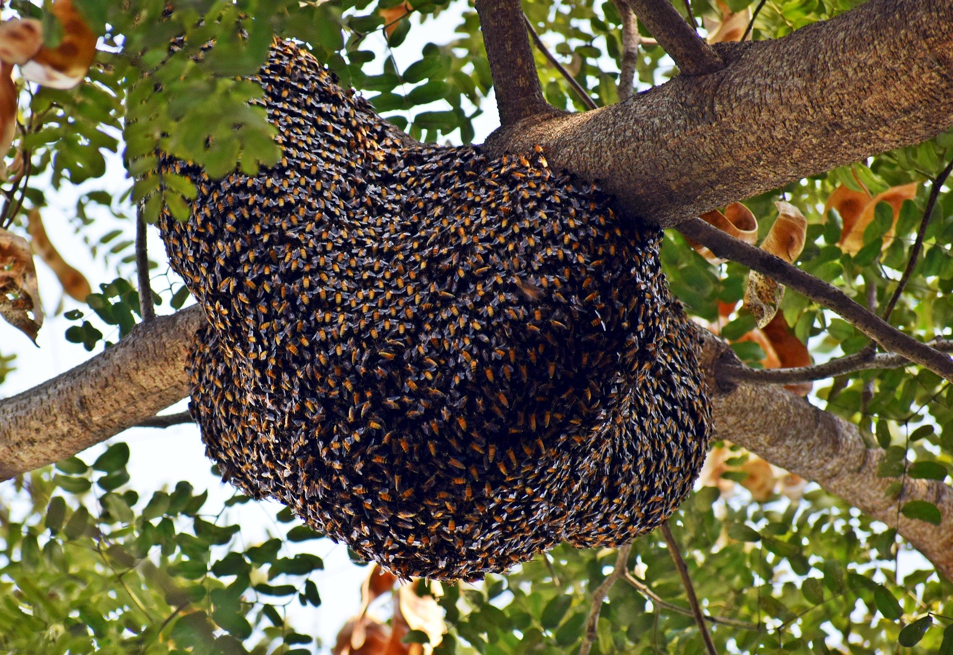
[[[836,312],[867,337],[880,343],[885,350],[898,353],[925,366],[943,379],[953,381],[953,360],[925,343],[904,335],[881,317],[847,297],[837,287],[801,271],[780,257],[725,234],[700,218],[682,223],[679,230],[683,235],[706,246],[716,256],[737,261]]]

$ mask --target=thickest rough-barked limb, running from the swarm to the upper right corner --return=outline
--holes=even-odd
[[[487,146],[541,144],[627,215],[671,227],[953,125],[953,3],[870,0],[775,41],[722,46],[718,72],[504,127]]]

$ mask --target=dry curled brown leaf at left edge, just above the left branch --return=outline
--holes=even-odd
[[[43,325],[43,307],[36,286],[30,244],[0,228],[0,316],[36,342]]]

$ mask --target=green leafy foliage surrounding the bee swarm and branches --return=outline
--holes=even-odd
[[[236,77],[257,69],[273,35],[301,40],[342,83],[366,94],[379,112],[422,140],[473,140],[492,85],[476,13],[465,2],[411,2],[413,11],[406,14],[396,0],[179,0],[165,18],[164,0],[75,4],[92,30],[103,34],[97,59],[86,82],[72,90],[22,88],[22,137],[16,145],[31,162],[30,174],[16,189],[4,185],[10,195],[0,215],[0,227],[27,235],[30,208],[82,185],[73,225],[92,255],[118,277],[96,280],[100,291],[68,314],[75,324],[65,337],[77,344],[70,347],[108,346],[104,334],[122,338],[138,319],[138,295],[127,280],[134,260],[132,224],[124,220],[132,213],[130,200],[143,202],[149,219],[160,203],[180,218],[189,215],[194,190],[184,178],[152,174],[156,147],[192,159],[213,175],[235,165],[253,171],[278,156],[274,128],[254,106],[260,90]],[[683,3],[674,4],[684,10]],[[758,4],[728,0],[726,6],[741,11]],[[755,20],[754,37],[778,37],[857,4],[770,0]],[[39,5],[11,4],[21,15],[38,17]],[[694,0],[692,7],[697,16],[719,19],[715,2]],[[621,40],[613,4],[538,0],[525,10],[593,100],[616,102]],[[428,31],[436,21],[454,31]],[[415,45],[431,37],[440,43]],[[170,53],[173,38],[179,50]],[[412,61],[398,67],[408,49],[414,50]],[[552,104],[584,109],[539,52],[537,68]],[[658,46],[642,47],[640,88],[674,72]],[[120,152],[137,181],[116,192],[108,162]],[[745,204],[760,221],[761,238],[777,215],[776,201],[797,207],[807,219],[796,260],[801,269],[862,304],[869,299],[882,307],[906,265],[929,180],[951,157],[953,133],[945,133],[792,182]],[[824,212],[837,189],[876,196],[909,183],[919,184],[912,200],[895,214],[886,205],[875,206],[861,247],[841,247],[845,216],[836,208]],[[11,204],[17,197],[23,201]],[[97,217],[104,209],[120,221],[120,229],[106,223],[104,234]],[[940,194],[924,244],[889,319],[925,340],[944,335],[953,324],[953,193]],[[710,263],[675,233],[665,236],[662,259],[688,311],[734,339],[741,358],[762,365],[765,348],[773,346],[770,339],[748,337],[755,334],[755,319],[740,307],[747,271]],[[172,308],[186,299],[178,281],[155,294],[157,303]],[[853,326],[790,290],[780,314],[814,358],[855,353],[867,343]],[[9,361],[0,357],[0,381]],[[859,422],[871,445],[885,450],[881,473],[897,479],[895,492],[908,478],[948,480],[953,390],[934,374],[913,366],[849,374],[815,385],[814,393],[821,406]],[[953,653],[953,586],[940,581],[893,530],[817,488],[788,498],[772,484],[756,501],[752,492],[731,483],[752,486],[753,473],[744,468],[747,454],[730,452],[733,470],[709,480],[720,483],[723,493],[700,486],[673,520],[706,612],[734,622],[711,626],[720,650],[868,653],[902,645]],[[115,444],[92,467],[72,458],[55,471],[17,481],[10,496],[27,509],[12,518],[0,510],[0,650],[309,652],[314,639],[286,624],[283,607],[320,603],[308,575],[321,563],[283,549],[289,540],[314,534],[282,512],[278,520],[290,529],[268,542],[241,544],[235,526],[249,499],[236,495],[231,507],[208,515],[203,494],[188,482],[154,493],[133,489],[125,453]],[[935,522],[938,510],[919,501],[904,505],[902,513]],[[449,633],[437,652],[572,652],[592,593],[614,561],[614,551],[558,547],[506,576],[445,585],[440,603]],[[639,539],[628,564],[665,605],[620,581],[601,609],[594,652],[702,652],[660,535]]]

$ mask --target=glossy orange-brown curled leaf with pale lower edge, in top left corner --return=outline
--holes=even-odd
[[[72,6],[72,0],[55,0],[52,12],[63,25],[63,39],[56,48],[41,48],[20,68],[32,82],[53,89],[71,89],[90,70],[96,56],[96,35]]]

